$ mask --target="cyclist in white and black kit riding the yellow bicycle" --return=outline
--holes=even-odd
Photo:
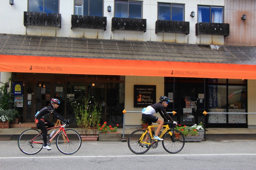
[[[149,126],[152,125],[152,122],[159,124],[159,126],[157,127],[157,130],[156,130],[156,133],[153,137],[156,140],[162,141],[163,139],[161,139],[158,135],[159,135],[160,130],[163,127],[163,122],[164,121],[171,121],[176,125],[177,125],[177,122],[173,121],[173,119],[171,119],[171,116],[169,116],[169,114],[165,110],[165,107],[168,106],[168,102],[169,102],[168,97],[161,96],[159,100],[160,100],[160,102],[158,102],[156,104],[153,104],[153,105],[150,105],[150,106],[145,107],[145,108],[142,109],[142,119],[147,120]],[[162,116],[164,121],[153,115],[157,112],[160,113],[160,115]]]

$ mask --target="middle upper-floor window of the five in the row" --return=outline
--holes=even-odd
[[[115,17],[142,18],[142,2],[140,1],[115,1]]]

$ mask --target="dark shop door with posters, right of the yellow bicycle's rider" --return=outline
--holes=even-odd
[[[194,125],[203,122],[204,115],[204,88],[203,84],[194,84],[189,86],[180,86],[180,100],[178,102],[178,111],[180,112],[179,124]]]

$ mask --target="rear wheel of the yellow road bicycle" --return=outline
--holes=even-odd
[[[144,154],[151,147],[150,145],[145,146],[141,143],[140,137],[143,133],[144,130],[135,130],[128,138],[128,147],[134,154]],[[148,136],[148,142],[151,143],[151,137],[148,133],[143,137],[142,141],[145,140],[146,136]]]

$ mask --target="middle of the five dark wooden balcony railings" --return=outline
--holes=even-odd
[[[112,18],[113,30],[132,30],[132,31],[147,31],[147,19],[136,18]]]

